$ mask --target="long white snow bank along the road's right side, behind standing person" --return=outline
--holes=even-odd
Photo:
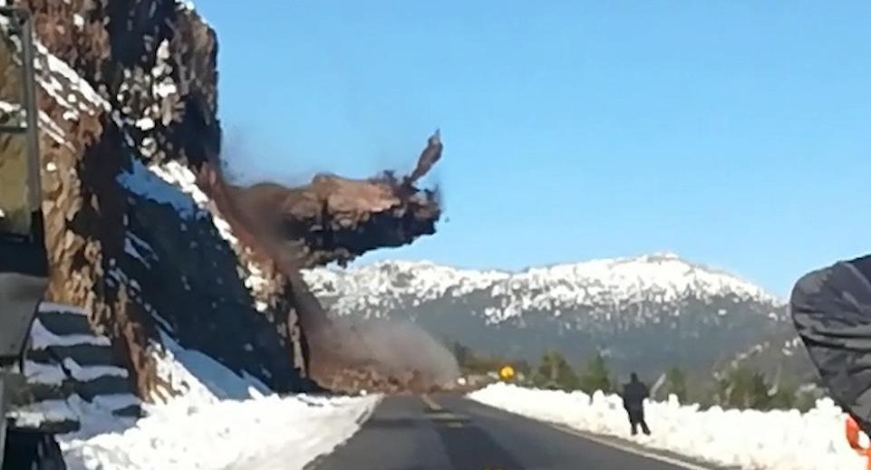
[[[485,405],[593,434],[631,439],[634,444],[751,470],[859,470],[864,460],[847,446],[845,415],[829,399],[808,413],[702,410],[674,398],[649,402],[653,436],[630,436],[621,398],[583,392],[491,385],[469,394]]]

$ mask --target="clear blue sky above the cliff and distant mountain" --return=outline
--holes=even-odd
[[[408,170],[441,128],[448,220],[363,262],[673,251],[786,295],[871,251],[871,2],[197,6],[248,179]]]

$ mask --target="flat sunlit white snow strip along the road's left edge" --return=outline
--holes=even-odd
[[[352,436],[377,398],[312,406],[272,395],[151,410],[122,432],[62,443],[70,470],[294,469]]]

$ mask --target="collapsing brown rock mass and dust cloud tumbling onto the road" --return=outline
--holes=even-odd
[[[242,242],[285,275],[305,331],[307,369],[325,388],[421,391],[456,376],[450,353],[414,325],[330,319],[300,274],[301,269],[346,264],[373,249],[434,234],[441,214],[438,191],[415,183],[440,159],[442,149],[437,131],[411,175],[402,178],[392,172],[368,179],[319,174],[302,187],[272,182],[240,187],[227,183],[218,162],[200,172],[200,186]],[[418,354],[413,362],[397,360],[414,356],[411,351],[420,347],[431,354]]]

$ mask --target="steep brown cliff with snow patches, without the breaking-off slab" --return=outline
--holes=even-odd
[[[21,1],[37,35],[49,297],[89,312],[144,398],[160,333],[303,389],[283,282],[198,190],[218,161],[217,43],[188,4]]]

